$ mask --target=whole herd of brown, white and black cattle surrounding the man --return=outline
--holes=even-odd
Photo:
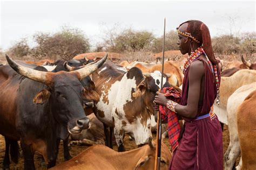
[[[153,100],[160,89],[159,59],[151,63],[116,63],[103,53],[99,58],[86,56],[79,54],[69,61],[31,62],[15,61],[6,55],[8,64],[0,66],[4,169],[10,167],[10,157],[16,164],[18,162],[18,140],[24,169],[35,169],[35,152],[42,154],[47,167],[52,169],[154,167],[151,131],[156,129]],[[164,62],[164,87],[182,85],[185,60],[181,57]],[[256,112],[256,64],[241,57],[241,62],[226,65],[228,68],[221,74],[220,105],[214,104],[215,114],[230,131],[225,169],[234,167],[240,153],[236,168],[256,169],[256,125],[253,122],[256,121],[253,115]],[[125,133],[141,147],[123,152]],[[68,161],[55,166],[60,140],[63,140],[64,158]],[[70,140],[94,144],[101,141],[106,146],[91,146],[71,159]],[[113,142],[118,152],[111,149]],[[162,143],[161,168],[168,168],[171,156]]]

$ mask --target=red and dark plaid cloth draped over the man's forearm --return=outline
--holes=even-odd
[[[161,90],[161,93],[165,94],[165,97],[169,100],[172,100],[176,103],[179,103],[181,98],[180,90],[177,90],[174,87],[165,87]],[[171,111],[166,107],[166,105],[159,105],[159,111],[161,114],[161,121],[167,122],[167,129],[169,134],[169,141],[174,151],[179,145],[179,135],[180,135],[180,125],[179,119],[175,112]]]

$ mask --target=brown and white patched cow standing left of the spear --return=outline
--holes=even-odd
[[[144,76],[145,75],[145,76]],[[103,122],[104,129],[112,128],[118,145],[118,151],[124,151],[123,136],[129,133],[137,145],[145,144],[151,134],[151,120],[154,119],[153,100],[160,88],[161,73],[145,73],[133,67],[128,72],[120,70],[111,61],[104,63],[95,74],[95,90],[99,94],[93,112]],[[169,86],[167,78],[164,87]],[[106,145],[112,147],[109,133],[104,131]],[[111,138],[110,138],[111,139]]]

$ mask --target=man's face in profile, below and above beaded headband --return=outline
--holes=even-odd
[[[179,31],[181,31],[181,32],[185,33],[186,30],[187,30],[187,23],[185,23],[185,24],[183,24],[179,27]],[[189,40],[189,38],[186,37],[186,36],[183,36],[179,33],[178,33],[178,37],[179,37],[179,39],[177,41],[177,44],[179,45],[179,50],[180,50],[181,54],[188,53],[189,49],[190,49],[190,44],[189,44],[190,40]]]

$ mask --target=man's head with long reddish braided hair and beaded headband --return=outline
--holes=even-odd
[[[177,27],[179,36],[179,49],[182,54],[191,52],[194,46],[203,46],[209,60],[216,65],[219,60],[215,59],[210,32],[208,27],[199,20],[188,20]]]

